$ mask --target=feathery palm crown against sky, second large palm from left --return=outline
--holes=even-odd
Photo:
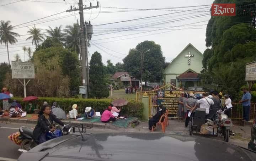
[[[31,34],[31,36],[28,37],[26,40],[32,39],[32,45],[36,45],[36,48],[39,42],[44,40],[45,34],[41,33],[41,31],[42,29],[36,28],[36,25],[34,25],[34,27],[30,28],[30,30],[27,32]]]

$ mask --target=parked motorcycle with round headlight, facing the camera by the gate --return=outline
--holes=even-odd
[[[224,111],[217,111],[217,118],[214,118],[213,120],[207,119],[207,124],[216,124],[218,127],[218,134],[224,137],[224,141],[229,142],[229,136],[235,136],[235,133],[232,132],[233,123]]]

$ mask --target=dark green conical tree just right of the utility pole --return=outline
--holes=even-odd
[[[91,98],[101,99],[109,96],[109,91],[106,88],[105,73],[103,70],[101,54],[94,52],[90,60],[90,93]]]

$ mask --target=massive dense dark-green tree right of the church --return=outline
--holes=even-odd
[[[235,99],[240,87],[246,84],[245,64],[256,59],[256,17],[251,14],[255,4],[239,0],[213,3],[236,3],[236,16],[210,18],[206,29],[206,46],[210,48],[204,51],[201,78],[206,86],[221,87]]]

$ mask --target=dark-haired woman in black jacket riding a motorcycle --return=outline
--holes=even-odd
[[[43,105],[38,115],[37,125],[33,131],[33,137],[39,144],[46,141],[47,132],[55,130],[53,121],[64,126],[64,123],[51,113],[50,106]]]

